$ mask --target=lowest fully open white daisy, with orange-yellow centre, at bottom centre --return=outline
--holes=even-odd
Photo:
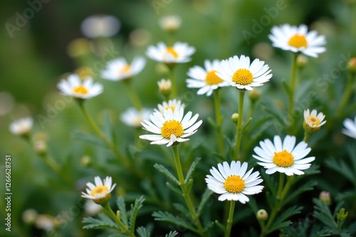
[[[232,161],[229,165],[225,161],[222,165],[218,164],[218,169],[212,167],[211,175],[206,175],[205,182],[208,189],[221,194],[219,201],[239,201],[245,204],[250,200],[246,195],[262,192],[263,186],[257,185],[263,181],[260,179],[260,173],[252,173],[253,168],[246,172],[247,162],[241,165],[240,161]]]

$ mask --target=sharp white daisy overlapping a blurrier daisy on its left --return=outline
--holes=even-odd
[[[269,74],[268,65],[264,61],[255,59],[250,65],[250,57],[229,57],[222,60],[216,68],[216,75],[237,89],[251,90],[268,82],[272,75]]]

